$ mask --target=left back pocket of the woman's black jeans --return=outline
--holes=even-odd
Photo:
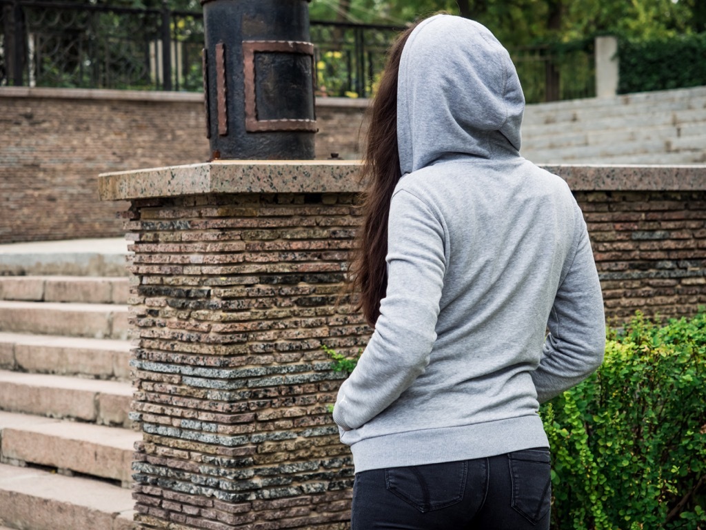
[[[465,461],[385,469],[387,489],[421,513],[461,502],[468,473]]]

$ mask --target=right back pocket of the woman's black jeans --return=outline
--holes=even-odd
[[[551,508],[549,449],[524,449],[508,454],[513,481],[513,509],[537,524]]]

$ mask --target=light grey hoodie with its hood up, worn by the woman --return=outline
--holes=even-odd
[[[539,403],[602,362],[586,224],[566,182],[520,156],[524,108],[484,26],[438,15],[410,35],[387,292],[333,411],[357,472],[548,447]]]

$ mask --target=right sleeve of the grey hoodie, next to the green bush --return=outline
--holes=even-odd
[[[540,403],[582,382],[603,362],[606,345],[603,297],[583,215],[578,245],[549,314],[542,360],[532,373]]]

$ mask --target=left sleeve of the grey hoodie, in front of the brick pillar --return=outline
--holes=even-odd
[[[390,204],[387,264],[388,287],[375,332],[333,409],[343,430],[359,428],[390,406],[424,373],[436,341],[445,273],[443,226],[405,190]]]

